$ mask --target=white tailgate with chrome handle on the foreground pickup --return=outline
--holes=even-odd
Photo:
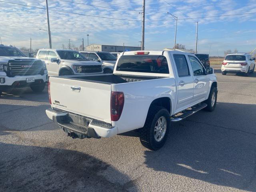
[[[52,107],[111,123],[111,84],[50,77]]]

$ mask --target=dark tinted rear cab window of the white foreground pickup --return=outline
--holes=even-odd
[[[125,55],[118,60],[116,71],[168,74],[169,68],[162,55]]]

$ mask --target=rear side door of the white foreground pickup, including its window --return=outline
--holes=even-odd
[[[184,54],[173,54],[173,59],[178,81],[178,102],[176,106],[176,112],[178,112],[192,104],[194,80],[186,56]]]

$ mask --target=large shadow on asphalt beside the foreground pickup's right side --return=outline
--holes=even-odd
[[[198,112],[173,123],[164,147],[144,152],[146,166],[219,186],[256,191],[256,114],[246,120],[240,118],[248,111],[256,111],[256,105],[218,103],[214,112]]]

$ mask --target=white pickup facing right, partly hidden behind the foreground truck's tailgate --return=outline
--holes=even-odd
[[[36,58],[45,62],[49,76],[102,73],[102,64],[89,61],[78,51],[40,49]]]

